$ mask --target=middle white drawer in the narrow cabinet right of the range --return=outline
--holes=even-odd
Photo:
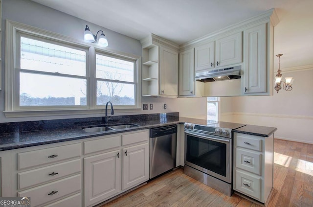
[[[261,158],[261,153],[236,149],[236,167],[257,175],[261,175]]]

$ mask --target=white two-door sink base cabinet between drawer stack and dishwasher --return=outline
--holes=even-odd
[[[141,130],[84,142],[85,154],[102,152],[84,158],[84,207],[149,180],[148,140],[149,130]]]

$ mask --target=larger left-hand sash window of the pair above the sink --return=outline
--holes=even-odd
[[[51,44],[22,33],[18,37],[17,108],[86,106],[86,49]]]

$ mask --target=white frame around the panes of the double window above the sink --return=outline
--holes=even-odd
[[[20,51],[17,48],[19,46],[19,33],[22,36],[35,37],[38,40],[44,40],[52,44],[59,44],[60,46],[67,46],[70,48],[78,48],[86,51],[86,80],[87,80],[87,105],[86,106],[19,106],[19,75],[17,72],[21,70],[16,68],[17,61],[19,59]],[[49,116],[49,115],[89,115],[98,114],[102,115],[104,111],[103,106],[96,106],[96,91],[95,91],[95,54],[107,54],[114,58],[124,58],[134,61],[134,80],[136,80],[135,94],[134,94],[134,106],[114,106],[116,114],[137,112],[140,111],[140,77],[141,71],[140,63],[141,57],[128,54],[125,52],[117,51],[110,48],[102,48],[94,44],[85,43],[83,40],[74,39],[58,33],[46,31],[44,29],[36,28],[33,26],[25,25],[22,23],[16,23],[10,20],[6,20],[6,50],[5,50],[5,117],[31,117],[31,116]],[[17,54],[18,53],[18,54]],[[66,75],[75,77],[76,75]],[[76,76],[84,77],[84,76]],[[94,92],[93,92],[94,90]]]

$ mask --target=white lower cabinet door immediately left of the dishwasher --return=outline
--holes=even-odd
[[[149,144],[122,149],[123,190],[149,180]]]

